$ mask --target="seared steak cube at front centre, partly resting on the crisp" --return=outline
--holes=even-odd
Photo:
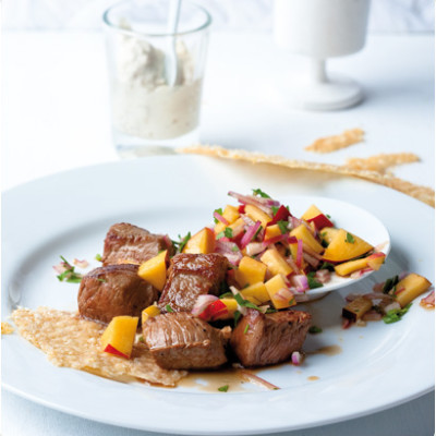
[[[227,362],[230,327],[219,330],[184,312],[148,318],[144,342],[157,364],[166,370],[216,368]]]

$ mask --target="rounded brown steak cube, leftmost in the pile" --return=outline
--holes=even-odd
[[[137,265],[108,265],[83,277],[78,289],[80,314],[109,323],[114,316],[140,316],[158,299],[158,291],[137,275]]]

